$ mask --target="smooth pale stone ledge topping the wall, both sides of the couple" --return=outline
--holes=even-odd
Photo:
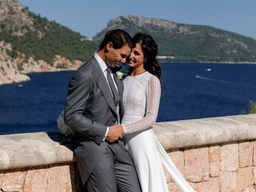
[[[255,130],[256,114],[154,125],[166,150],[256,139]],[[68,139],[58,132],[1,135],[0,144],[0,170],[75,161]]]

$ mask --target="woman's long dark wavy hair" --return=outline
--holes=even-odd
[[[134,45],[139,43],[142,46],[145,58],[144,69],[161,80],[161,68],[156,60],[158,50],[154,38],[144,33],[137,33],[134,38],[132,38],[132,43],[134,43]]]

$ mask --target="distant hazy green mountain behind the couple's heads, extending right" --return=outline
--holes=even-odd
[[[106,31],[122,28],[130,35],[148,33],[159,46],[159,58],[177,62],[255,63],[256,41],[210,26],[174,23],[142,16],[119,16],[93,37],[99,42]]]

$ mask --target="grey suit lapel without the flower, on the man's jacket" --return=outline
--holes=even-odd
[[[97,60],[95,60],[95,58],[92,58],[92,68],[93,68],[92,75],[95,77],[96,83],[100,88],[100,90],[102,91],[103,97],[105,97],[105,100],[107,104],[110,106],[110,108],[112,108],[112,110],[116,112],[116,107],[114,105],[114,100],[112,97],[110,87],[107,84],[107,80],[102,72],[102,69],[100,68],[100,64],[97,63]]]

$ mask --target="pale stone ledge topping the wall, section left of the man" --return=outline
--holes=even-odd
[[[58,132],[0,136],[0,170],[75,161],[68,139]]]

